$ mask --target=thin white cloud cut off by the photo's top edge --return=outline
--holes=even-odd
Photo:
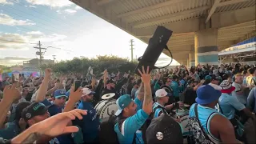
[[[29,2],[32,5],[43,5],[50,7],[64,7],[74,5],[74,3],[70,2],[69,0],[26,0],[26,2]]]

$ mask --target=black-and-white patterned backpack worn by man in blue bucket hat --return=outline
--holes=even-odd
[[[190,118],[189,125],[191,130],[191,143],[195,144],[214,144],[206,134],[198,118],[198,104],[194,106],[195,117]]]

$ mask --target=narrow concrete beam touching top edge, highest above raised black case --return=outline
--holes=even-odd
[[[130,11],[130,12],[127,12],[124,14],[118,14],[118,18],[124,18],[124,17],[130,16],[130,15],[133,15],[133,14],[140,14],[140,13],[143,13],[143,12],[146,12],[149,10],[155,10],[155,9],[159,9],[164,6],[170,6],[170,5],[174,5],[174,4],[182,3],[182,2],[186,2],[186,1],[187,0],[171,0],[171,1],[167,1],[167,2],[161,2],[158,4],[152,5],[152,6],[143,7],[142,9],[133,10],[133,11]]]

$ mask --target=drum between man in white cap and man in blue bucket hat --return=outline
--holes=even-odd
[[[183,137],[190,135],[189,126],[189,110],[178,109],[176,118],[180,118],[180,126],[182,127]]]

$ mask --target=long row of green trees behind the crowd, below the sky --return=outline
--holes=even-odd
[[[94,70],[94,74],[99,76],[102,72],[107,69],[109,73],[127,73],[129,70],[132,72],[137,62],[129,62],[128,58],[119,58],[114,55],[97,56],[96,58],[73,58],[72,60],[62,61],[50,65],[42,65],[42,70],[51,68],[55,74],[79,74],[86,75],[89,66]]]

